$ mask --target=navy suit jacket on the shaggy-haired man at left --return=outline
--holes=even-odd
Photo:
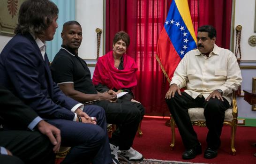
[[[43,59],[30,33],[16,34],[4,47],[0,54],[0,76],[0,85],[43,119],[74,119],[70,110],[78,102],[65,96],[53,82],[48,57],[45,53]]]

